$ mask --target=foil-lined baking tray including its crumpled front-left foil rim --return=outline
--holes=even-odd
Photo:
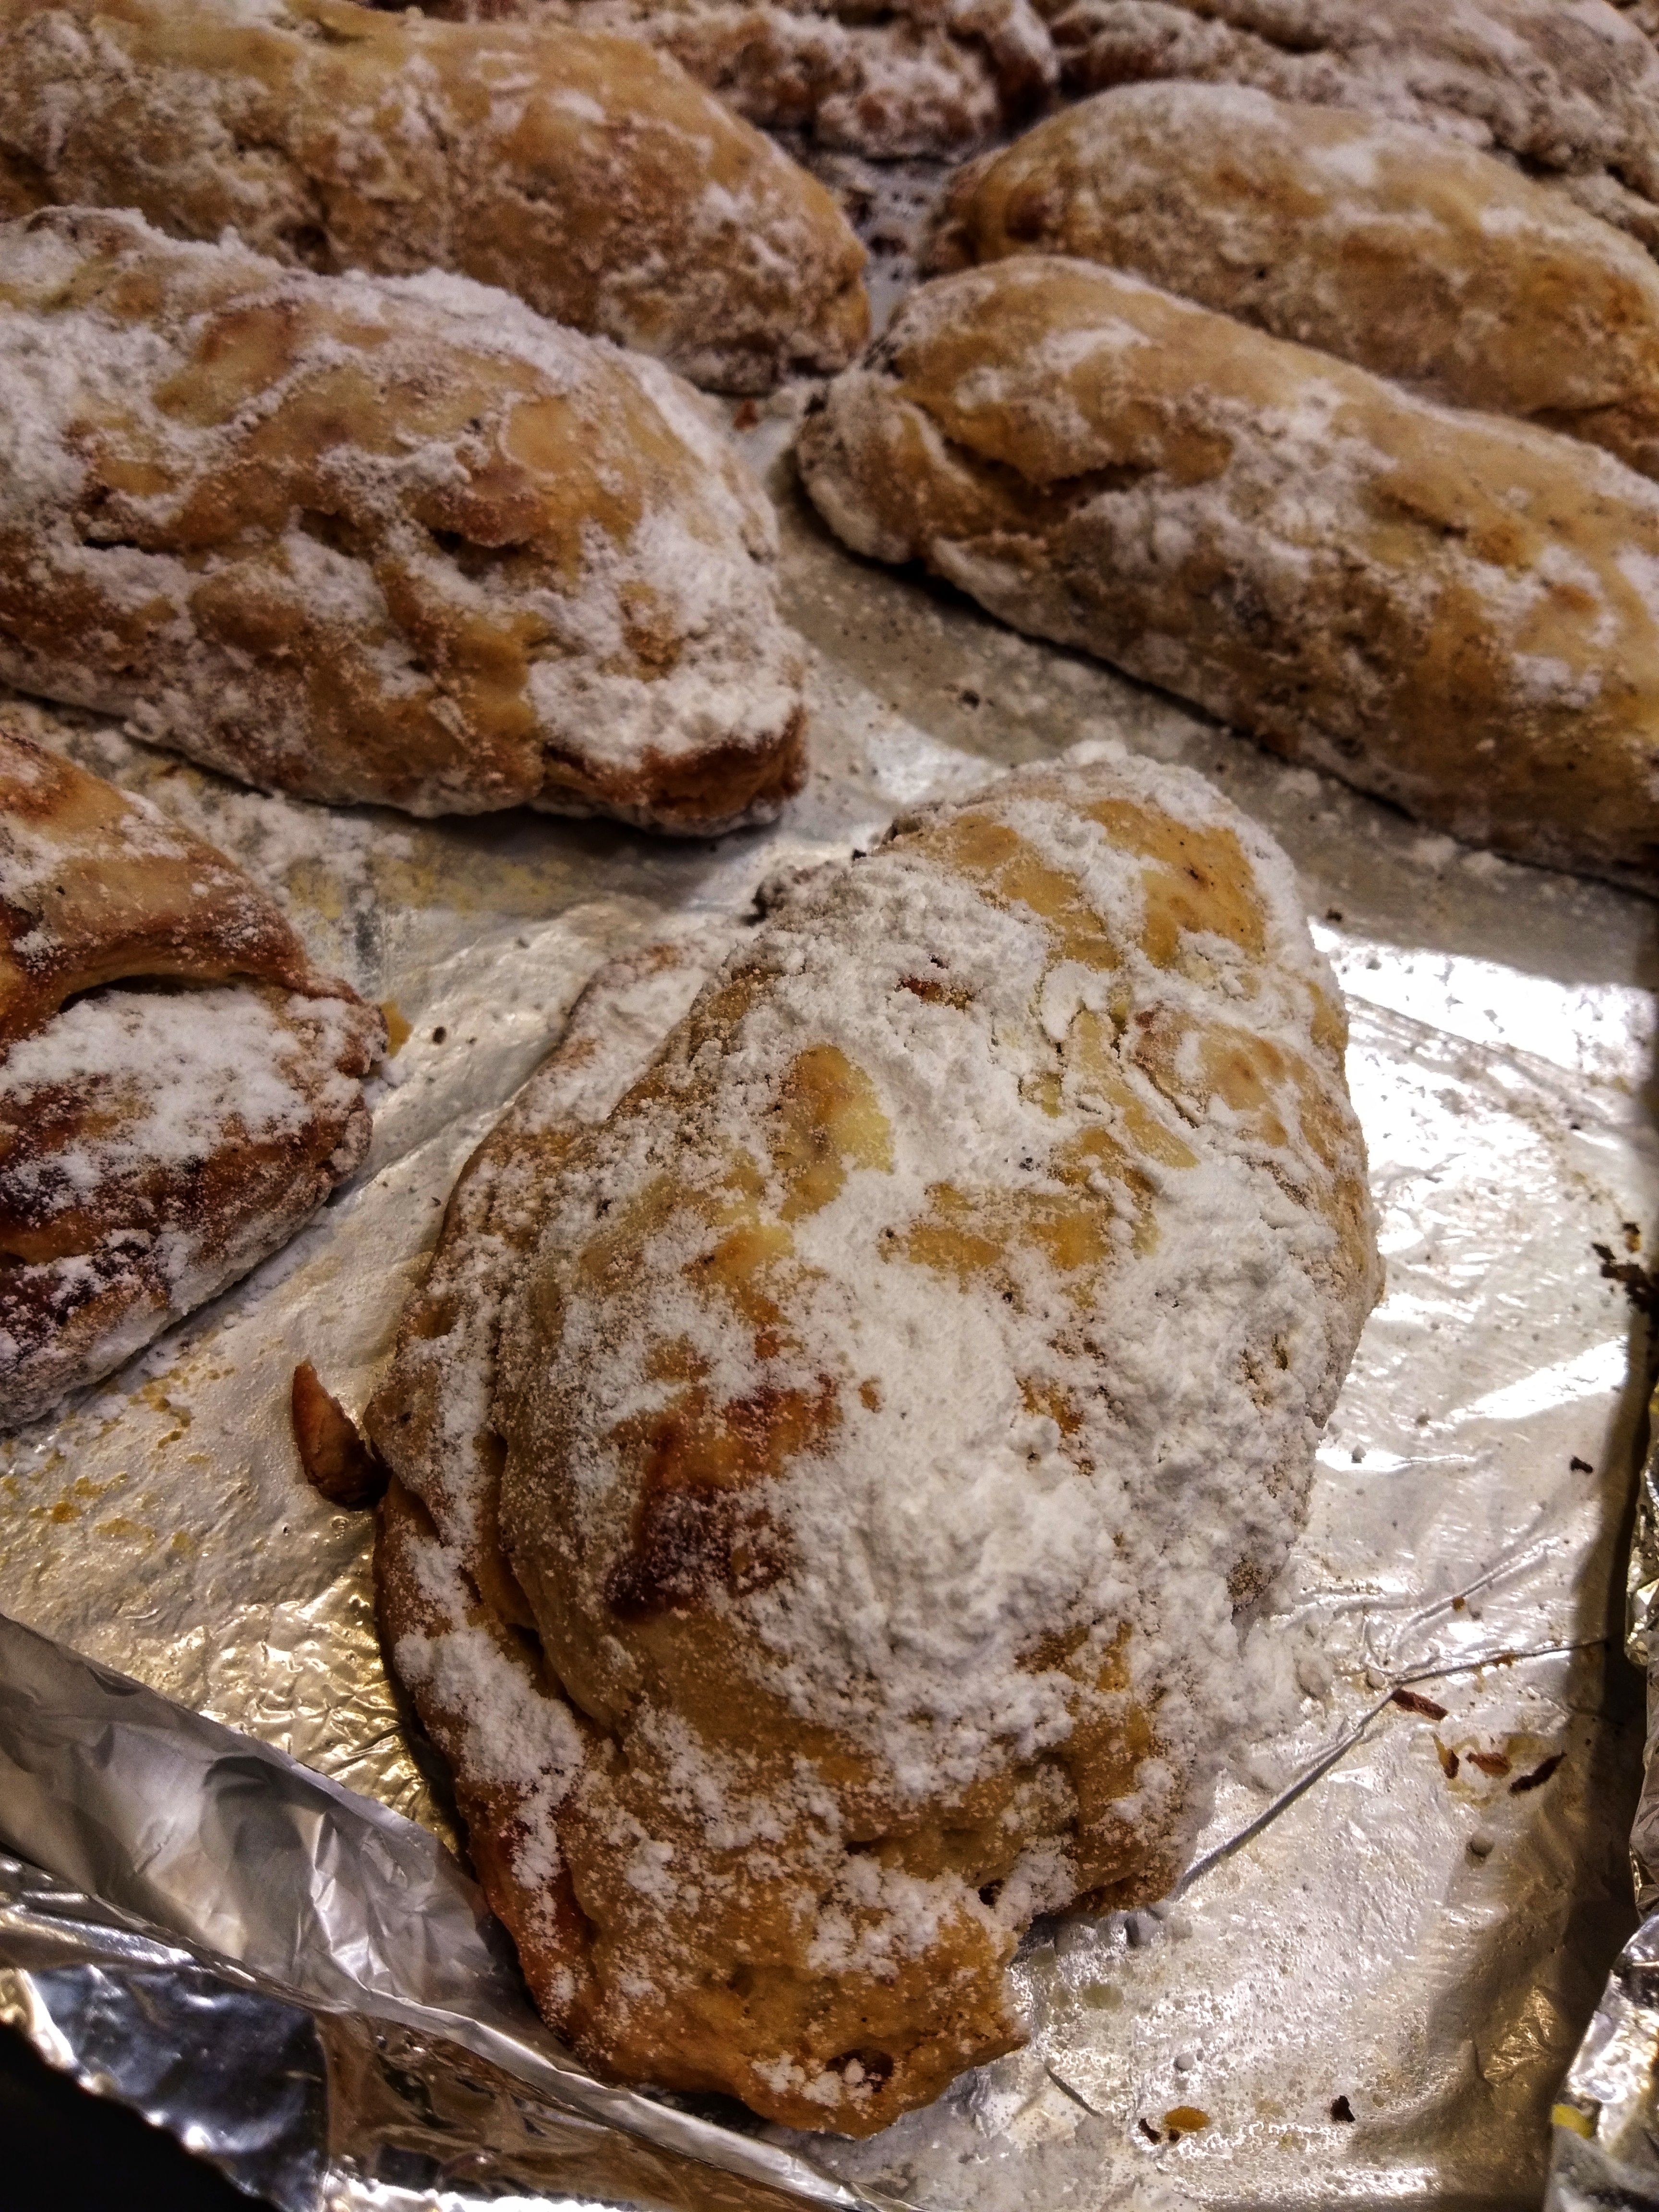
[[[403,1044],[374,1150],[316,1223],[0,1449],[0,1610],[93,1661],[15,1632],[0,1657],[0,2004],[305,2212],[1537,2203],[1635,1922],[1641,1681],[1617,1637],[1659,914],[1422,836],[852,560],[781,458],[790,409],[741,438],[816,648],[812,783],[770,832],[319,810],[46,717],[272,885]],[[292,1367],[363,1405],[460,1161],[604,958],[1099,737],[1212,774],[1274,830],[1349,995],[1389,1296],[1254,1628],[1294,1697],[1234,1761],[1181,1891],[1040,1924],[1018,1969],[1031,2044],[883,2137],[584,2084],[438,1847],[440,1792],[374,1641],[367,1524],[299,1480]]]

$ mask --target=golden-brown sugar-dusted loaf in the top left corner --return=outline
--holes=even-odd
[[[175,237],[538,314],[765,392],[869,310],[830,195],[637,40],[347,0],[0,0],[0,215],[137,208]]]

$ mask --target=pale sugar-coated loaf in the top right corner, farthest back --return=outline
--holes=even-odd
[[[1659,252],[1659,55],[1608,0],[1040,0],[1073,93],[1254,84],[1491,146]]]

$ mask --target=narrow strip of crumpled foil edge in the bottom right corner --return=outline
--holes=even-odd
[[[1648,1674],[1648,1741],[1630,1829],[1637,1911],[1551,2112],[1544,2212],[1646,2212],[1659,2205],[1659,1391],[1637,1480],[1626,1571],[1624,1650]]]

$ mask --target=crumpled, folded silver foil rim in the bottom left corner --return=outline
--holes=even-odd
[[[4,1615],[0,1683],[0,2022],[239,2188],[281,2212],[889,2212],[577,2070],[400,1814]]]

